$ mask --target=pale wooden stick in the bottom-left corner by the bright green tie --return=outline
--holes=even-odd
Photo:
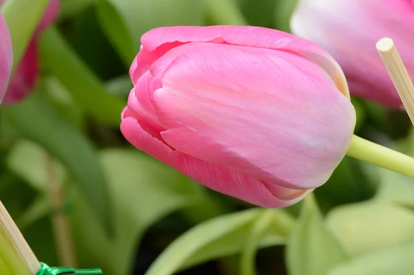
[[[22,261],[26,263],[28,269],[32,274],[37,274],[41,268],[39,261],[30,249],[30,246],[24,239],[16,223],[8,214],[6,207],[0,201],[0,232],[6,236],[8,242],[12,245],[14,250],[19,254]]]

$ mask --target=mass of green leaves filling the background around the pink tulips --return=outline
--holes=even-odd
[[[19,60],[46,1],[9,1],[2,12]],[[291,275],[413,274],[412,179],[346,157],[304,203],[262,210],[207,190],[119,133],[144,32],[209,24],[289,31],[295,2],[61,0],[59,21],[39,42],[36,91],[0,116],[0,199],[41,261],[61,264],[51,221],[63,211],[78,265],[107,275],[253,275],[277,265]],[[357,134],[414,154],[405,114],[353,103]],[[50,203],[50,173],[64,210]],[[274,251],[265,247],[279,258],[262,261]]]

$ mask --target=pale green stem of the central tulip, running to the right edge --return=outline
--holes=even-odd
[[[360,161],[366,161],[414,178],[414,159],[411,156],[367,141],[359,136],[353,136],[346,154]]]

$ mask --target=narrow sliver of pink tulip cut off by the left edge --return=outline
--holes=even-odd
[[[12,39],[8,31],[6,21],[0,14],[0,103],[8,87],[10,73],[13,66]]]

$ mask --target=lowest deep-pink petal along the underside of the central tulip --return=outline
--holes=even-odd
[[[126,110],[124,113],[128,113]],[[311,190],[288,190],[233,172],[225,167],[201,161],[181,152],[172,151],[167,145],[153,138],[141,128],[133,117],[124,117],[121,132],[139,150],[174,167],[192,179],[218,192],[235,196],[262,207],[286,207],[300,201]],[[277,196],[277,197],[276,197]]]

